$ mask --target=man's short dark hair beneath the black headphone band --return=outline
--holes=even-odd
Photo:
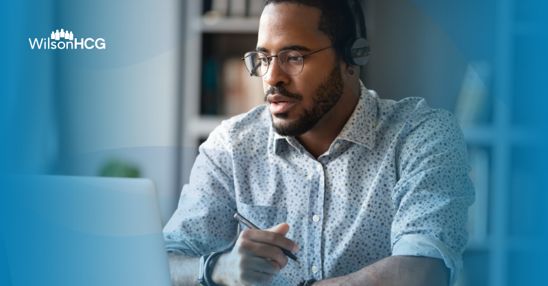
[[[364,13],[358,2],[356,0],[358,15],[360,16],[361,34],[363,38],[366,38]],[[279,3],[294,3],[318,8],[321,12],[318,30],[323,32],[332,44],[343,43],[338,44],[334,49],[337,57],[339,57],[337,60],[345,58],[345,43],[349,38],[356,36],[356,24],[347,0],[266,0],[264,1],[264,7]]]

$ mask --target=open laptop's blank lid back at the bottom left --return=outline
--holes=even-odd
[[[9,276],[3,281],[171,285],[153,181],[22,175],[0,181],[0,273]]]

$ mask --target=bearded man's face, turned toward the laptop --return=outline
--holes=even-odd
[[[319,16],[319,10],[304,5],[266,6],[260,21],[258,51],[277,55],[292,49],[306,55],[331,46],[329,38],[318,30]],[[263,88],[277,133],[306,133],[336,105],[345,84],[335,58],[334,49],[314,53],[303,59],[299,75],[288,75],[273,58],[263,77]]]

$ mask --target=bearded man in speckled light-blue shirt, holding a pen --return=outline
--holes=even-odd
[[[266,105],[200,147],[164,229],[174,285],[199,285],[201,267],[211,285],[456,281],[473,202],[462,132],[422,99],[363,86],[338,44],[351,18],[345,1],[266,1],[253,53],[262,66],[250,70]],[[236,212],[267,230],[238,233]]]

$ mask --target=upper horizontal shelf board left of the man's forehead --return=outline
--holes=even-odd
[[[258,17],[201,17],[192,25],[195,30],[203,33],[257,34],[259,31]]]

